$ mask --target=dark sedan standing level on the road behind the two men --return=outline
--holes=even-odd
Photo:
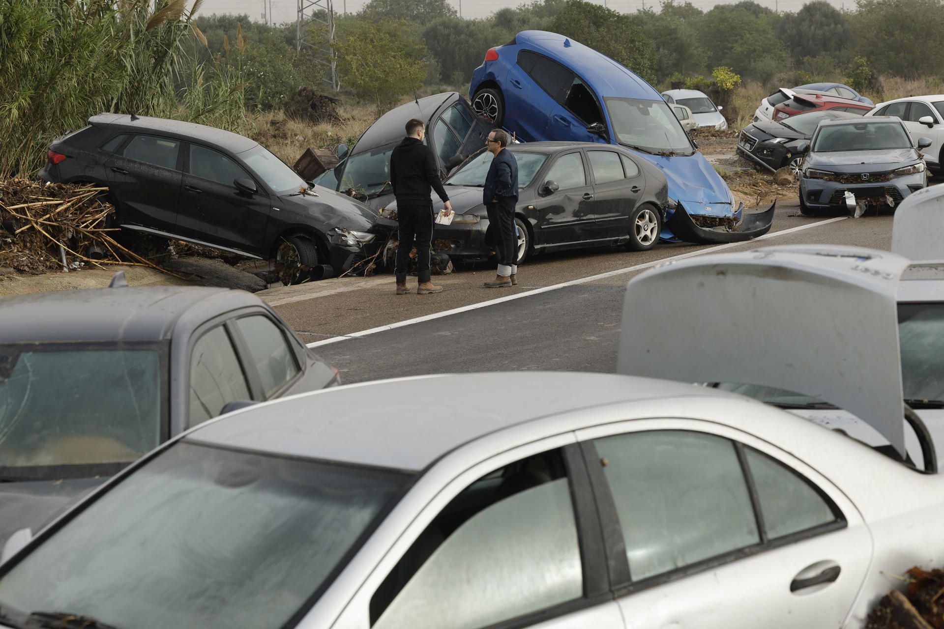
[[[668,183],[649,161],[597,142],[526,142],[508,150],[518,164],[518,262],[534,252],[610,244],[645,251],[659,241]],[[452,223],[435,225],[436,251],[467,261],[489,256],[482,186],[491,163],[483,149],[446,180],[455,215]],[[433,198],[436,210],[442,205]],[[382,214],[393,218],[394,209],[396,202]]]

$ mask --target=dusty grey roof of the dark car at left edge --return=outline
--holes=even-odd
[[[260,303],[244,290],[191,286],[14,295],[0,299],[0,342],[170,339],[177,320],[194,307],[225,312]]]

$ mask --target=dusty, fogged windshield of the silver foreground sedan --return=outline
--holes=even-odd
[[[410,476],[180,442],[0,577],[0,608],[115,627],[281,627]]]

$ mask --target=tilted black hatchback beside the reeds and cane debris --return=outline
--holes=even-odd
[[[285,284],[343,273],[384,240],[369,207],[203,124],[93,116],[52,142],[39,176],[108,186],[122,227],[273,260]]]

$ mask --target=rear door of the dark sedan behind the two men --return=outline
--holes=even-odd
[[[630,212],[639,202],[645,177],[632,159],[615,151],[593,149],[586,155],[593,175],[593,237],[626,238]]]

